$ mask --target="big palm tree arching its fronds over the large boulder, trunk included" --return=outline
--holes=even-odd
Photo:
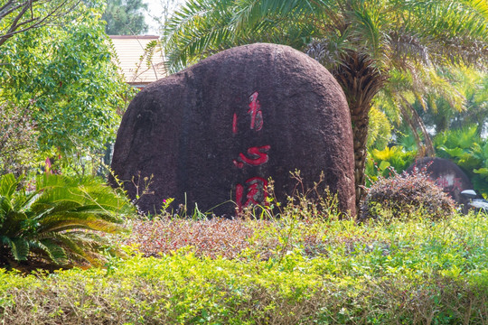
[[[416,78],[433,67],[483,66],[487,22],[485,0],[188,0],[164,40],[170,70],[251,42],[287,44],[323,63],[351,110],[359,207],[368,113],[390,71]]]

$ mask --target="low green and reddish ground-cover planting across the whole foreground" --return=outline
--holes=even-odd
[[[133,220],[105,268],[0,271],[5,324],[486,324],[485,216]]]

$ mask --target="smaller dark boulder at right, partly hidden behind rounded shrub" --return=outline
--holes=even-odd
[[[473,190],[473,184],[455,163],[444,158],[425,157],[408,167],[407,172],[413,172],[414,168],[418,168],[419,171],[425,170],[429,179],[435,181],[437,186],[449,194],[458,205],[462,205],[464,211],[467,211],[469,199],[462,196],[461,192]]]

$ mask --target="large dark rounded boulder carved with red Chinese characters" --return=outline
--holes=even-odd
[[[257,43],[222,51],[140,91],[122,119],[112,169],[132,198],[154,175],[139,209],[175,207],[234,215],[278,200],[299,170],[305,186],[324,171],[339,207],[355,213],[352,128],[342,88],[315,60]],[[139,187],[136,184],[139,181]]]

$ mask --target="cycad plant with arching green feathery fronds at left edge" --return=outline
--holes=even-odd
[[[28,191],[0,177],[0,267],[99,265],[105,233],[123,231],[131,205],[95,178],[43,174]]]

